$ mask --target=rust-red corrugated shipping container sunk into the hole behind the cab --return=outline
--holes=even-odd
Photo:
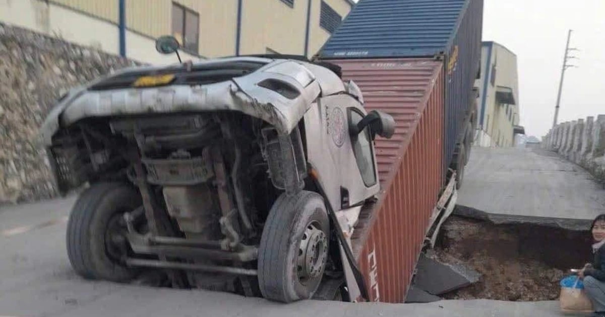
[[[353,253],[372,301],[403,303],[443,184],[443,66],[431,59],[333,60],[361,88],[365,108],[393,115],[376,139],[381,191],[364,207]]]

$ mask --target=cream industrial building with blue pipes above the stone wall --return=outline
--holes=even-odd
[[[0,22],[139,62],[165,64],[154,40],[172,34],[185,58],[312,56],[351,0],[1,0]]]

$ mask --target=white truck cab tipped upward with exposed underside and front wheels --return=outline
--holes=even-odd
[[[337,296],[356,266],[341,226],[378,193],[373,139],[394,130],[338,69],[232,57],[125,69],[62,97],[42,133],[60,191],[90,184],[68,222],[75,271],[121,282],[153,268],[169,286],[284,302],[323,280]]]

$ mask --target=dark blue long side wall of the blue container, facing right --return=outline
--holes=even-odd
[[[465,8],[445,63],[444,168],[450,165],[466,129],[465,118],[473,110],[472,91],[481,63],[483,0],[470,0]]]

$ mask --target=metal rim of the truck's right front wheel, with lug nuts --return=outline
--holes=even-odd
[[[298,280],[307,281],[321,278],[328,255],[328,239],[318,222],[307,223],[298,246],[296,274]]]

